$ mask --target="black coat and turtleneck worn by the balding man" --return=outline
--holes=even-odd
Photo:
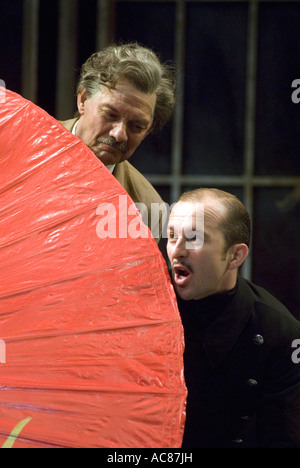
[[[231,295],[178,303],[189,392],[183,447],[300,448],[300,363],[292,347],[300,323],[242,278]],[[203,314],[215,318],[204,326]]]

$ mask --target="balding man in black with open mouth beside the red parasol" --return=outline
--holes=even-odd
[[[300,324],[238,274],[249,242],[249,215],[227,192],[187,192],[171,212],[167,250],[186,339],[184,447],[300,448]]]

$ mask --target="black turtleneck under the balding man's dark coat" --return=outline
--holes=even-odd
[[[177,297],[185,335],[184,373],[188,388],[182,447],[210,446],[211,431],[206,429],[214,426],[216,415],[210,401],[215,378],[207,356],[207,333],[211,329],[211,334],[214,324],[222,321],[222,312],[225,311],[226,316],[226,311],[231,309],[237,289],[236,286],[231,291],[200,300],[184,301]]]

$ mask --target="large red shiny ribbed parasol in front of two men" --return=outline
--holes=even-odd
[[[6,91],[0,447],[181,445],[183,330],[166,265],[149,236],[97,234],[103,203],[119,223],[120,195],[136,223],[133,202],[93,153]]]

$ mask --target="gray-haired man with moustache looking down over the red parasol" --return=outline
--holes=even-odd
[[[157,241],[163,201],[128,159],[150,132],[165,125],[174,105],[171,67],[136,43],[111,45],[83,64],[77,86],[78,112],[74,119],[62,122],[112,172],[132,200],[147,208],[146,222]],[[156,216],[160,228],[151,219],[153,207],[160,207]]]

